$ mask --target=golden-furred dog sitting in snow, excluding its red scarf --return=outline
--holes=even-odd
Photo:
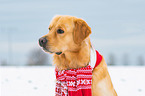
[[[39,45],[45,52],[53,54],[53,62],[59,71],[86,67],[94,58],[89,37],[91,28],[83,19],[57,15],[48,30],[49,33],[39,39]],[[92,96],[117,96],[103,56],[92,70],[91,90]]]

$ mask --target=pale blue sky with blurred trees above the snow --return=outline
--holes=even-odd
[[[145,65],[144,0],[0,0],[0,65],[52,66],[38,39],[55,15],[83,18],[111,66]]]

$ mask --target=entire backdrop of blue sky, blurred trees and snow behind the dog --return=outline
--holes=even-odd
[[[0,96],[55,96],[52,55],[38,45],[55,15],[88,23],[119,96],[145,96],[145,0],[0,0]]]

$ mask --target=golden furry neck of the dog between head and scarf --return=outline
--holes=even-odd
[[[54,54],[53,62],[58,70],[68,70],[82,68],[89,64],[90,61],[89,43],[84,42],[78,51],[67,51],[61,55]]]

